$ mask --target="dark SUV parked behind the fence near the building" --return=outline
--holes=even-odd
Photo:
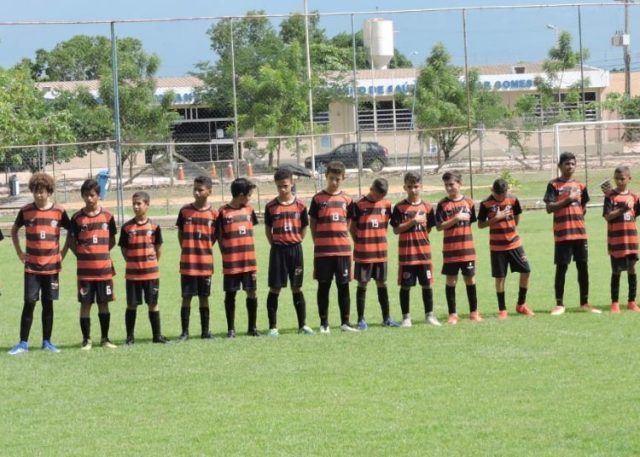
[[[356,153],[357,143],[341,144],[326,154],[316,155],[316,171],[324,173],[327,164],[332,160],[339,160],[347,168],[358,168],[358,155]],[[389,151],[384,146],[372,141],[360,143],[362,151],[362,167],[371,168],[372,171],[380,171],[389,163]],[[311,169],[311,157],[307,157],[304,166]]]

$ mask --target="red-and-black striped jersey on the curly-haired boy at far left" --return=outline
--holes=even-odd
[[[62,270],[60,230],[69,230],[69,224],[67,212],[57,204],[48,209],[38,209],[35,203],[29,203],[20,209],[14,225],[25,228],[25,272],[52,275]]]

